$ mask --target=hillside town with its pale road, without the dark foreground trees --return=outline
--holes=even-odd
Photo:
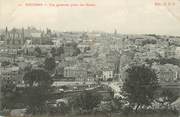
[[[127,69],[135,65],[153,69],[160,88],[180,95],[180,36],[130,35],[117,30],[57,32],[35,27],[6,27],[0,31],[1,85],[12,82],[20,91],[26,87],[24,77],[30,70],[43,69],[52,79],[51,99],[56,102],[49,100],[51,104],[68,100],[83,90],[95,90],[104,97],[113,92],[114,97],[122,97]],[[6,109],[22,105],[2,103],[1,108]],[[179,102],[173,106],[179,106],[176,104]]]

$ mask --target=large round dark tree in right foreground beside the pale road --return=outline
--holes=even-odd
[[[145,65],[132,66],[126,70],[127,78],[123,85],[124,96],[136,111],[143,106],[150,106],[158,88],[155,71]]]

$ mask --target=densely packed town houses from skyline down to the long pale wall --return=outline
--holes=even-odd
[[[16,76],[19,81],[23,76],[22,66],[31,64],[38,67],[38,64],[43,64],[52,48],[61,49],[60,54],[55,55],[57,80],[119,80],[124,78],[123,72],[132,63],[163,57],[180,59],[180,42],[175,39],[179,37],[100,32],[59,33],[33,27],[6,28],[0,37],[0,62],[16,63],[16,66],[6,68],[1,66],[1,77]],[[44,56],[34,55],[37,47]],[[153,63],[152,68],[157,71],[161,82],[179,80],[180,67],[177,65]]]

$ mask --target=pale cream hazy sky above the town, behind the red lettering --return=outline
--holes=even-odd
[[[156,6],[155,2],[175,5]],[[27,3],[96,6],[25,6]],[[0,28],[5,26],[180,35],[180,0],[0,0]]]

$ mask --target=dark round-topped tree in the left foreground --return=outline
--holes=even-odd
[[[44,69],[32,69],[27,72],[23,80],[25,82],[24,103],[31,113],[44,112],[45,102],[50,92],[52,79]]]

